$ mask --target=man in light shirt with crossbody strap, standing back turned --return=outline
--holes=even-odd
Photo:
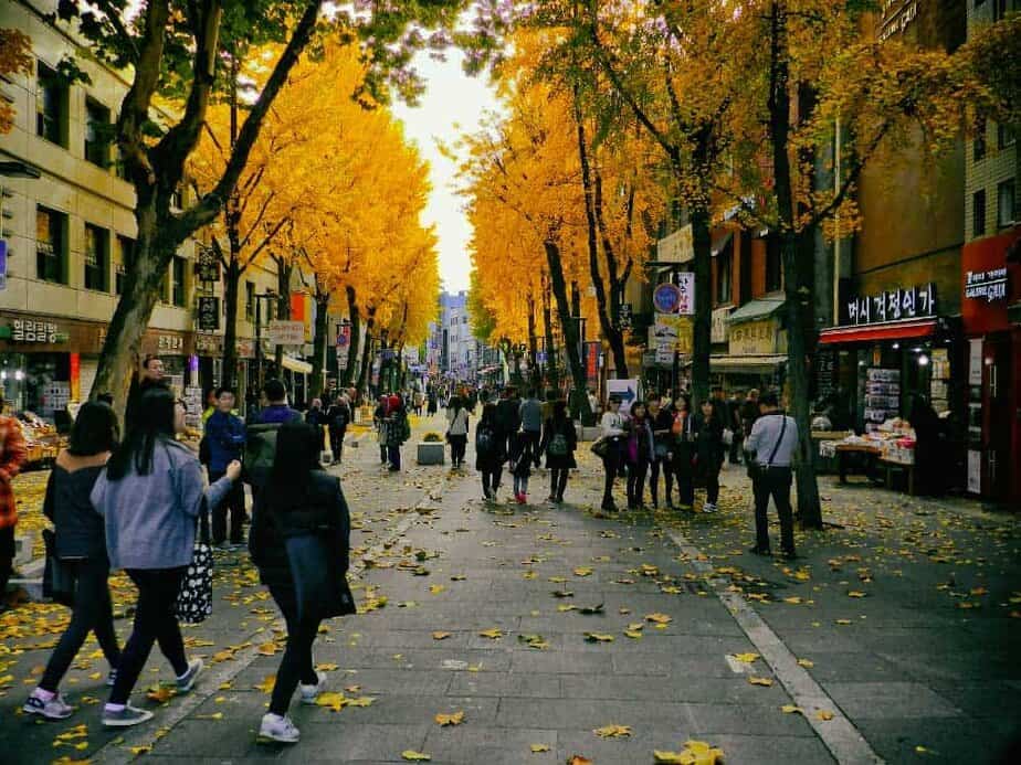
[[[798,423],[779,410],[777,394],[767,391],[759,402],[759,417],[745,439],[745,455],[755,493],[755,546],[751,552],[769,554],[769,521],[766,511],[772,497],[780,517],[780,546],[794,554],[794,523],[790,507],[791,460],[798,446]]]

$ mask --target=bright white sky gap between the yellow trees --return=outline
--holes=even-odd
[[[457,134],[474,131],[484,111],[497,108],[486,77],[469,77],[461,68],[461,61],[462,54],[456,49],[448,52],[445,62],[422,54],[417,67],[427,81],[428,91],[420,105],[410,108],[399,100],[393,104],[393,113],[403,120],[408,138],[419,145],[431,167],[432,195],[422,223],[436,225],[440,278],[443,288],[452,293],[469,286],[467,244],[472,229],[461,211],[462,200],[453,190],[456,166],[440,153],[435,138],[452,144]]]

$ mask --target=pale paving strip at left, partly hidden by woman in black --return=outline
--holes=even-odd
[[[445,491],[450,488],[450,484],[453,478],[461,478],[461,476],[448,475],[443,479],[444,486],[441,490]],[[425,495],[414,504],[412,512],[408,513],[407,518],[401,520],[400,523],[393,529],[393,533],[383,542],[380,542],[373,545],[368,552],[369,554],[381,553],[385,549],[392,546],[397,540],[404,535],[404,533],[418,522],[428,522],[429,516],[419,514],[419,508],[432,507],[433,500],[430,499],[430,492],[435,489],[427,489]],[[351,576],[358,576],[365,571],[365,563],[359,561],[352,561],[349,574]],[[273,628],[284,629],[284,623],[282,618],[278,618],[275,623],[272,624]],[[253,631],[251,635],[248,635],[244,639],[252,640],[256,635]],[[211,699],[213,695],[219,693],[218,689],[225,682],[231,682],[235,677],[241,674],[249,666],[259,657],[259,646],[253,641],[248,648],[238,651],[234,654],[234,660],[230,662],[224,662],[219,671],[207,670],[202,673],[202,688],[208,688],[208,693],[189,693],[183,697],[175,697],[176,700],[180,700],[180,703],[175,703],[165,710],[161,710],[157,718],[154,720],[154,723],[159,724],[160,731],[166,731],[169,733],[178,723],[185,720],[192,711],[198,709],[202,703]],[[160,740],[165,736],[160,736]],[[116,743],[115,743],[116,742]],[[92,755],[91,759],[94,762],[102,762],[104,765],[123,765],[126,763],[131,763],[137,759],[137,756],[131,754],[130,748],[133,746],[151,746],[154,750],[158,745],[159,740],[156,739],[156,731],[152,730],[150,725],[139,725],[137,727],[127,727],[124,729],[124,733],[108,742],[107,744],[101,746]]]

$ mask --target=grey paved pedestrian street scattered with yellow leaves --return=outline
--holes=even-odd
[[[696,739],[728,763],[982,763],[1019,732],[1011,518],[827,484],[827,518],[843,528],[799,534],[803,557],[788,566],[747,554],[739,470],[725,472],[717,516],[604,519],[587,453],[575,501],[554,509],[485,506],[473,471],[385,475],[371,447],[349,449],[344,470],[356,596],[369,609],[331,620],[316,647],[329,690],[367,705],[295,706],[301,744],[254,743],[280,634],[235,555],[218,574],[217,613],[188,631],[211,662],[200,690],[164,703],[139,694],[160,709],[126,733],[97,724],[106,668],[94,645],[65,683],[75,716],[20,716],[66,610],[0,617],[4,761],[651,763]],[[544,481],[533,477],[533,499]],[[168,671],[157,656],[146,684]],[[435,721],[459,712],[460,724]]]

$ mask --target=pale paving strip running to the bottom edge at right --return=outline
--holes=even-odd
[[[695,570],[707,575],[707,584],[713,587],[716,597],[730,612],[730,616],[734,617],[734,620],[737,621],[751,645],[755,646],[766,663],[772,669],[777,680],[787,689],[794,704],[803,710],[806,721],[812,726],[815,735],[819,736],[825,747],[830,750],[833,758],[841,765],[884,762],[873,751],[854,724],[844,715],[836,702],[827,694],[804,668],[798,665],[798,659],[791,654],[787,645],[772,631],[748,602],[738,593],[727,591],[729,582],[718,576],[711,576],[713,564],[708,563],[705,555],[680,532],[667,530],[666,533],[674,544],[681,549],[681,552],[687,556],[688,562]],[[734,669],[730,657],[727,657],[727,662],[730,663],[730,669]],[[817,716],[819,711],[831,712],[833,718],[827,721],[820,720]]]

